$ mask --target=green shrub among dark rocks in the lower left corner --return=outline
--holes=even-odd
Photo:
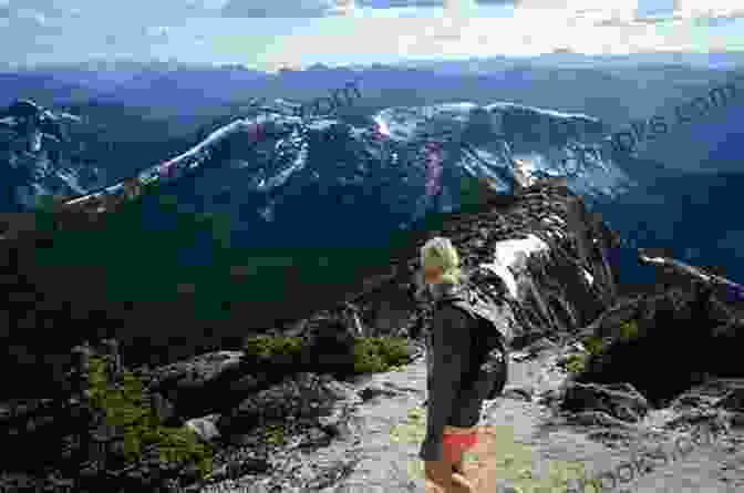
[[[90,358],[89,402],[106,413],[110,425],[124,430],[125,460],[138,462],[143,446],[156,445],[163,462],[193,463],[199,477],[210,473],[211,448],[186,428],[161,425],[155,410],[143,405],[143,384],[133,373],[124,373],[121,386],[108,384],[106,364],[105,356]]]

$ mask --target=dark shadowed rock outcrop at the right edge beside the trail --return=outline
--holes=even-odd
[[[657,292],[623,300],[582,330],[597,348],[577,380],[628,382],[661,405],[707,374],[742,377],[741,287],[671,258],[639,258],[659,270]]]

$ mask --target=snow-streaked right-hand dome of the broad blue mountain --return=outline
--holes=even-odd
[[[385,110],[374,120],[383,133],[404,145],[447,133],[454,144],[447,147],[451,166],[461,175],[489,176],[503,192],[514,185],[515,160],[527,165],[523,170],[527,183],[566,176],[569,188],[589,197],[613,197],[631,185],[603,155],[604,129],[599,120],[583,114],[513,103],[456,103]]]

